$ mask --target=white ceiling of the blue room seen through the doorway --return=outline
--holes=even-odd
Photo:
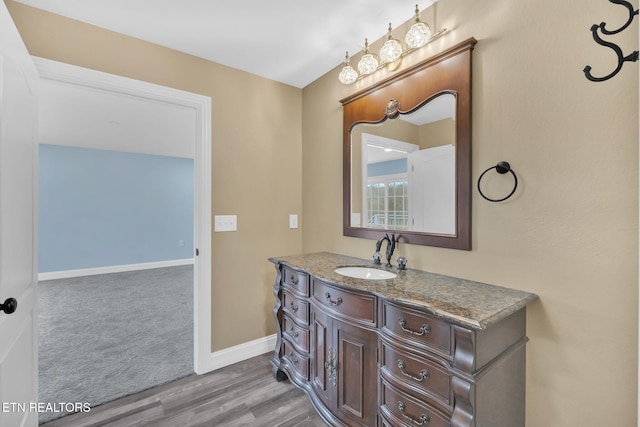
[[[194,158],[193,109],[40,80],[41,143],[99,150]]]

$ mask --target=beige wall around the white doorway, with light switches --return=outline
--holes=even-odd
[[[302,90],[7,0],[29,53],[211,97],[212,350],[275,333],[270,256],[299,253]]]

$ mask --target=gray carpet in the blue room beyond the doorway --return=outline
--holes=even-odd
[[[38,292],[40,402],[96,406],[193,373],[192,265],[47,280]]]

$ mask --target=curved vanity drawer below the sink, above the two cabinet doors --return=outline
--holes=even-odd
[[[313,299],[325,310],[360,323],[376,324],[376,297],[348,291],[313,278]]]

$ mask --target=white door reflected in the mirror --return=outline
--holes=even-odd
[[[453,145],[415,151],[407,156],[409,229],[456,233],[456,153]]]

